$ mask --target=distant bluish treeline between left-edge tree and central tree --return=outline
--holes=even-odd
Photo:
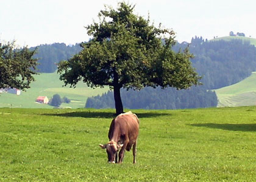
[[[35,47],[31,47],[30,49],[35,49]],[[57,63],[71,58],[71,56],[79,53],[81,49],[79,44],[66,45],[64,43],[54,43],[37,46],[37,54],[34,58],[38,58],[38,72],[55,72]]]

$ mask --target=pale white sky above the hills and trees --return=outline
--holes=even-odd
[[[15,40],[34,47],[54,42],[88,41],[85,26],[98,22],[104,5],[116,8],[117,0],[0,0],[0,42]],[[176,32],[179,42],[194,36],[204,39],[243,32],[256,38],[255,0],[129,0],[135,14],[150,17],[155,26]]]

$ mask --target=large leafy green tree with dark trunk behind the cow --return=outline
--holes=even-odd
[[[198,84],[188,49],[174,53],[174,32],[155,27],[135,15],[135,6],[121,2],[118,8],[99,12],[99,22],[86,27],[93,36],[82,50],[59,63],[65,85],[75,87],[82,80],[90,87],[110,86],[114,91],[116,114],[123,112],[120,89],[146,86],[187,89]]]

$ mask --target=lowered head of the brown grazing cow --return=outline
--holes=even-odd
[[[123,144],[118,144],[115,141],[110,141],[107,144],[99,144],[102,149],[106,149],[108,163],[115,163],[115,156],[117,155],[118,150],[123,147]]]

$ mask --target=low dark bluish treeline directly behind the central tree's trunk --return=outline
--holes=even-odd
[[[121,98],[126,109],[185,109],[213,107],[218,103],[216,93],[202,87],[192,87],[189,90],[160,87],[146,87],[140,91],[123,89]],[[102,96],[88,98],[85,107],[115,108],[113,92],[108,91]]]

